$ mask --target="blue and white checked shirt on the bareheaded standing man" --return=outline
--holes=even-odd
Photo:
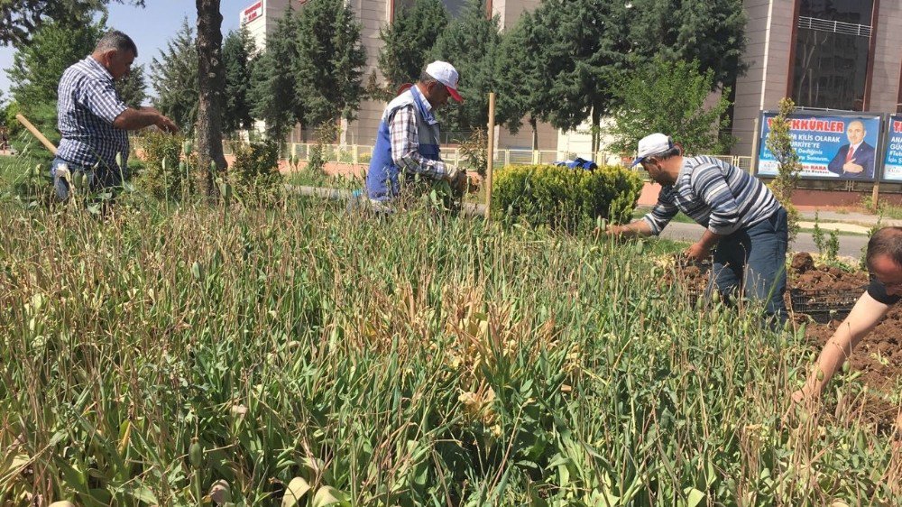
[[[57,125],[62,141],[57,156],[72,164],[99,164],[117,171],[115,156],[121,154],[124,169],[128,161],[128,133],[115,128],[113,121],[128,106],[116,92],[109,71],[88,56],[63,72],[58,91]]]

